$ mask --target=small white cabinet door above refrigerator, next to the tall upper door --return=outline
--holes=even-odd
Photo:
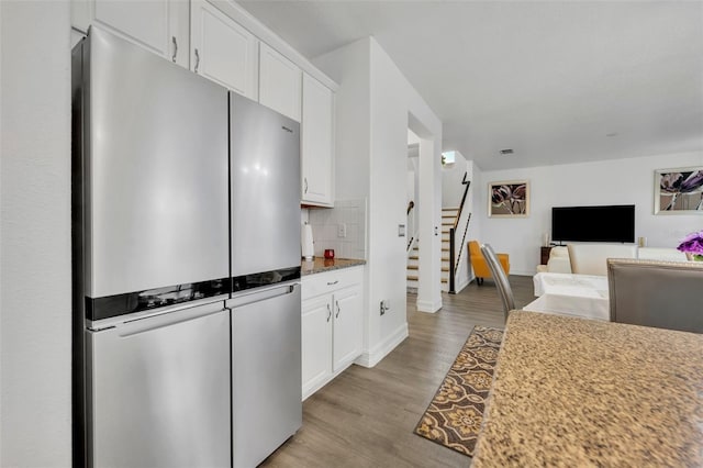
[[[300,122],[302,71],[288,58],[261,43],[259,102]]]

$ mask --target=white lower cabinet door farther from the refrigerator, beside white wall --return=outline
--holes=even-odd
[[[361,354],[361,288],[353,286],[334,294],[333,366],[336,372]]]

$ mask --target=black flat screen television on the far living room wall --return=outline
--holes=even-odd
[[[635,205],[554,207],[553,242],[635,242]]]

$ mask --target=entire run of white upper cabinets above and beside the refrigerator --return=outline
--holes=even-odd
[[[71,0],[71,25],[86,32],[90,24],[100,24],[300,122],[301,202],[333,207],[337,85],[235,2],[216,4],[207,0]]]

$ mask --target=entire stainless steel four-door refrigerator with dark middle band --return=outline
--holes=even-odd
[[[71,71],[75,464],[247,466],[300,426],[298,124],[94,26]]]

